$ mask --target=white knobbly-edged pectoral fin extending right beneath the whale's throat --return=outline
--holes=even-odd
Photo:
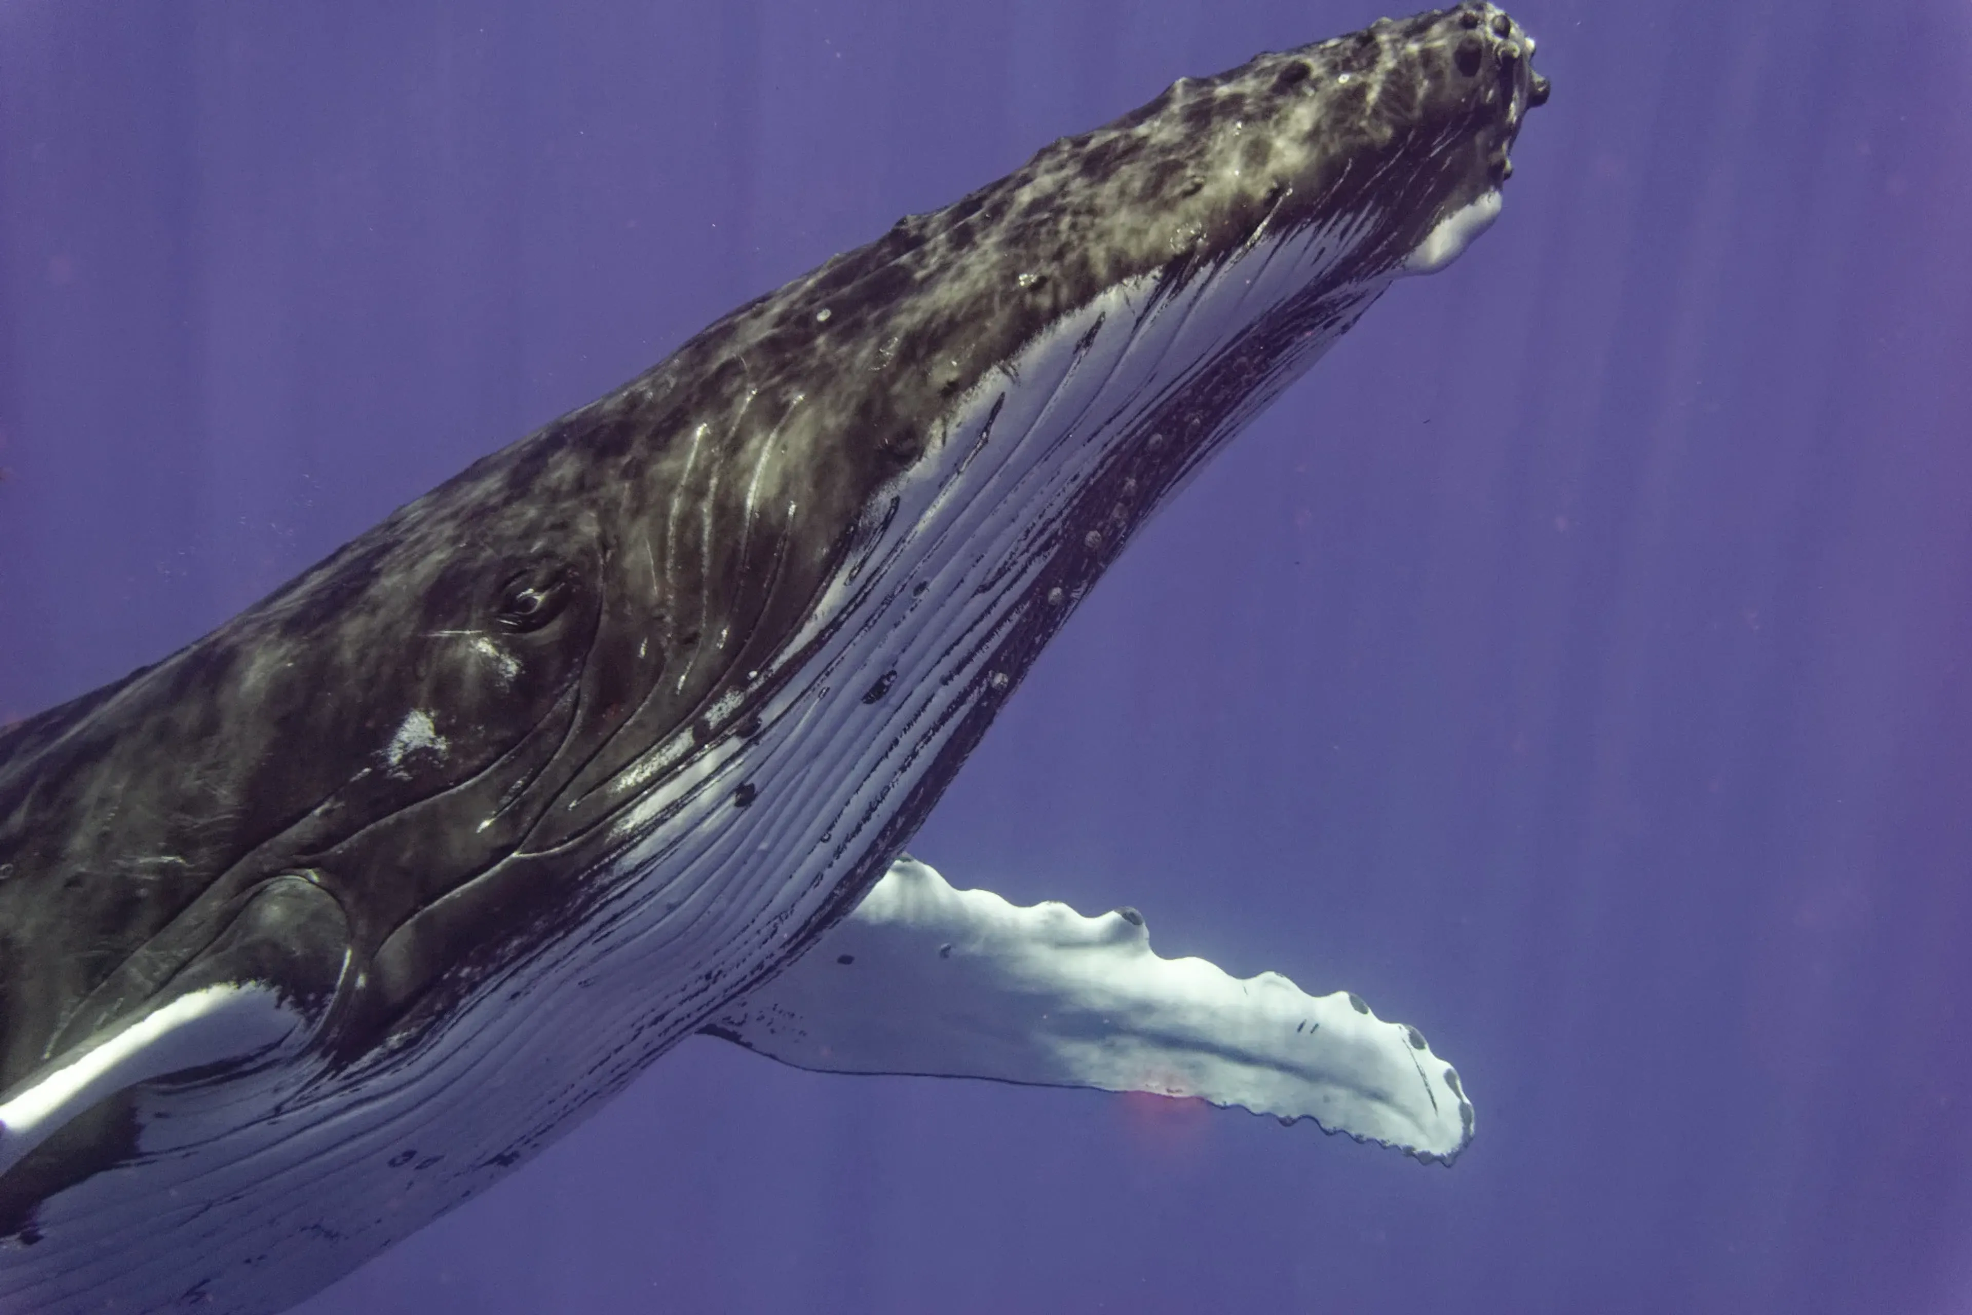
[[[1457,1073],[1349,992],[1160,958],[1134,909],[1023,909],[909,858],[706,1031],[828,1073],[1199,1096],[1428,1163],[1449,1163],[1473,1134]]]

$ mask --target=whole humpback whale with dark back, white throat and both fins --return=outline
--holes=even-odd
[[[0,731],[0,1311],[284,1309],[692,1033],[1451,1163],[1347,994],[903,846],[1144,519],[1499,213],[1467,2],[1179,79]]]

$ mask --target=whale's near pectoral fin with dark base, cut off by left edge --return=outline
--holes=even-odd
[[[0,1216],[22,1177],[65,1179],[59,1191],[79,1181],[75,1163],[95,1171],[134,1153],[124,1100],[132,1088],[235,1071],[304,1045],[347,966],[349,923],[333,895],[292,873],[262,883],[146,1007],[63,1047],[4,1092]],[[114,1155],[99,1145],[105,1138],[118,1142]],[[55,1159],[71,1163],[37,1163]]]

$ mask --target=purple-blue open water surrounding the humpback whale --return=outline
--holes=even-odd
[[[911,846],[1367,996],[1469,1155],[694,1041],[308,1315],[1972,1311],[1972,10],[1514,14],[1501,223],[1132,544]],[[0,716],[1374,16],[6,0]]]

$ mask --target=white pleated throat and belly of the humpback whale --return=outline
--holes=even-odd
[[[1217,266],[1112,286],[990,371],[868,509],[789,668],[759,672],[777,692],[757,729],[653,751],[676,767],[653,767],[611,824],[594,873],[607,893],[578,925],[347,1069],[243,1080],[225,1100],[142,1090],[142,1155],[47,1199],[41,1242],[0,1244],[0,1307],[191,1293],[215,1313],[278,1311],[534,1155],[797,952],[881,873],[941,753],[1018,682],[1023,660],[998,660],[1014,629],[1051,633],[1079,601],[1083,586],[1039,582],[1087,536],[1083,491],[1175,434],[1187,388],[1252,325],[1319,294],[1323,313],[1185,438],[1158,493],[1311,365],[1400,272],[1335,284],[1371,227],[1262,233]],[[274,1250],[282,1266],[256,1272]]]

